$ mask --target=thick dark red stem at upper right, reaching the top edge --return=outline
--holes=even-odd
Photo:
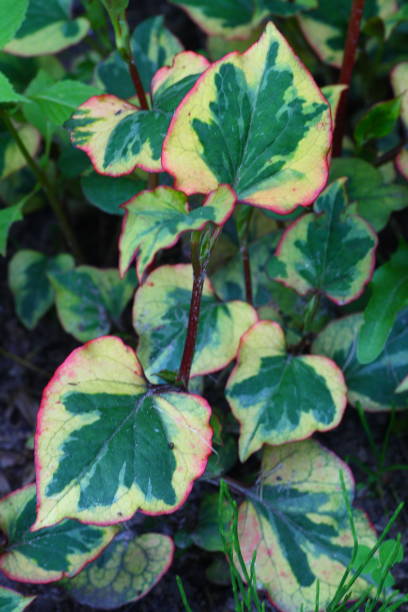
[[[350,88],[351,76],[356,57],[357,44],[360,35],[360,23],[363,16],[364,0],[353,0],[348,23],[346,44],[344,47],[343,63],[340,71],[339,84],[347,85],[348,89],[342,92],[337,108],[336,123],[333,136],[333,157],[341,155],[344,123],[346,118],[347,94]]]

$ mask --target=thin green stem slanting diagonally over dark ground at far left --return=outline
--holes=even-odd
[[[20,149],[24,159],[27,162],[27,165],[31,168],[33,174],[35,175],[41,187],[43,188],[47,196],[48,202],[51,208],[53,209],[54,214],[57,218],[61,231],[64,235],[65,241],[67,242],[68,246],[70,247],[73,254],[75,255],[75,258],[78,261],[83,261],[84,257],[82,255],[81,249],[76,241],[75,235],[71,229],[68,218],[65,215],[65,212],[61,206],[61,203],[57,195],[54,192],[53,186],[48,180],[48,176],[46,175],[44,170],[41,168],[41,166],[36,162],[36,160],[33,157],[31,157],[29,151],[27,150],[24,142],[22,141],[20,137],[20,134],[14,127],[7,113],[4,111],[0,111],[0,117],[2,118],[7,130],[10,132],[11,136],[15,140],[18,148]]]

